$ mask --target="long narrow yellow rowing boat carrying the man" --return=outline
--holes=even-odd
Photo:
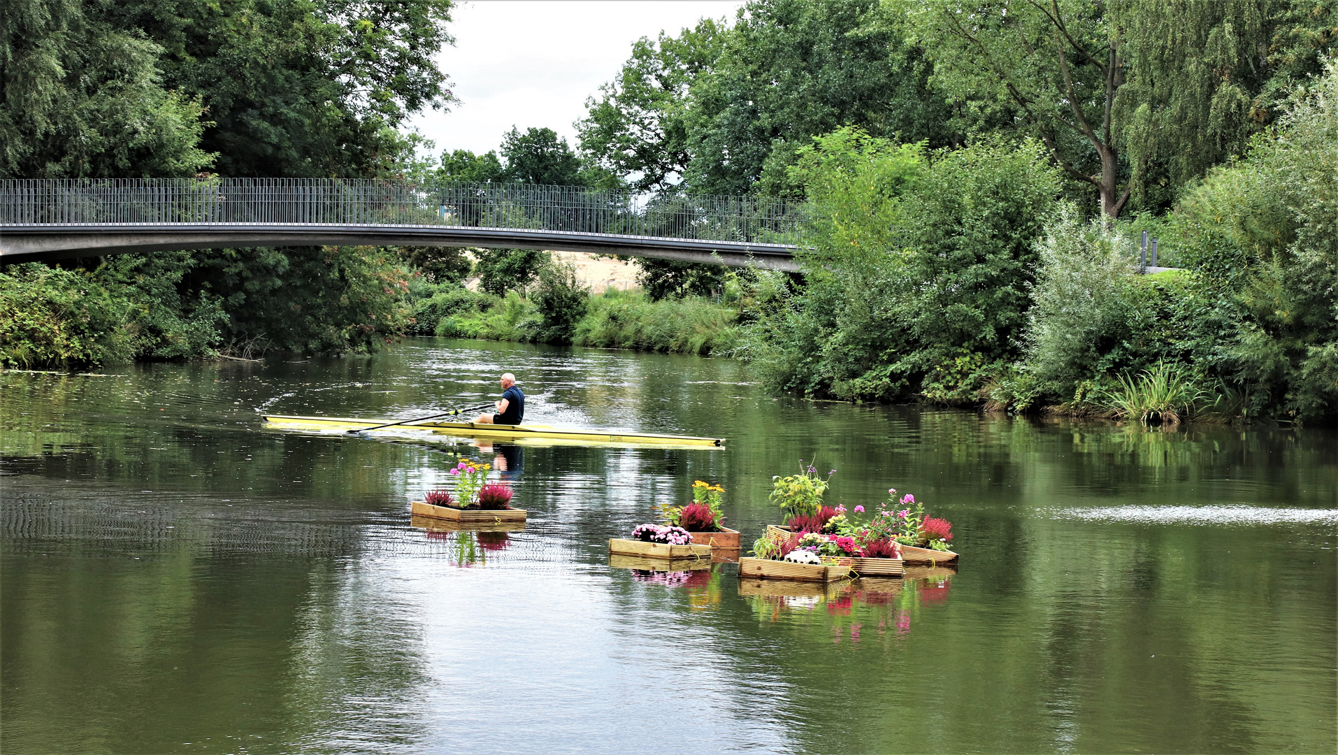
[[[384,419],[348,419],[339,416],[285,416],[265,415],[265,423],[274,430],[305,431],[349,431],[385,424]],[[405,422],[385,427],[384,432],[396,430],[428,431],[456,438],[486,438],[523,443],[527,446],[660,446],[714,448],[725,444],[724,438],[696,438],[693,435],[661,435],[656,432],[629,432],[621,430],[581,430],[553,427],[549,424],[480,424],[475,422],[452,422],[446,419],[425,419]],[[416,434],[415,432],[415,434]]]

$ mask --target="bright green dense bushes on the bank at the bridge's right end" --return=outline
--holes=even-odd
[[[929,151],[842,130],[801,151],[814,249],[759,281],[741,353],[781,390],[974,400],[1017,356],[1058,174],[1038,145]]]

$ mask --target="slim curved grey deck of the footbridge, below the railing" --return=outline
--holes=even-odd
[[[0,262],[237,246],[491,246],[797,270],[795,246],[508,228],[318,224],[0,225]]]

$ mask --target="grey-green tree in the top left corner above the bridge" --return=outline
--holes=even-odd
[[[165,87],[163,48],[95,0],[13,0],[0,11],[0,178],[190,175],[198,94]]]

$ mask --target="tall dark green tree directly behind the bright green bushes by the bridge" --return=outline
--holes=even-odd
[[[692,191],[799,195],[787,167],[846,124],[930,146],[958,143],[929,91],[923,52],[875,0],[753,0],[692,88]]]

